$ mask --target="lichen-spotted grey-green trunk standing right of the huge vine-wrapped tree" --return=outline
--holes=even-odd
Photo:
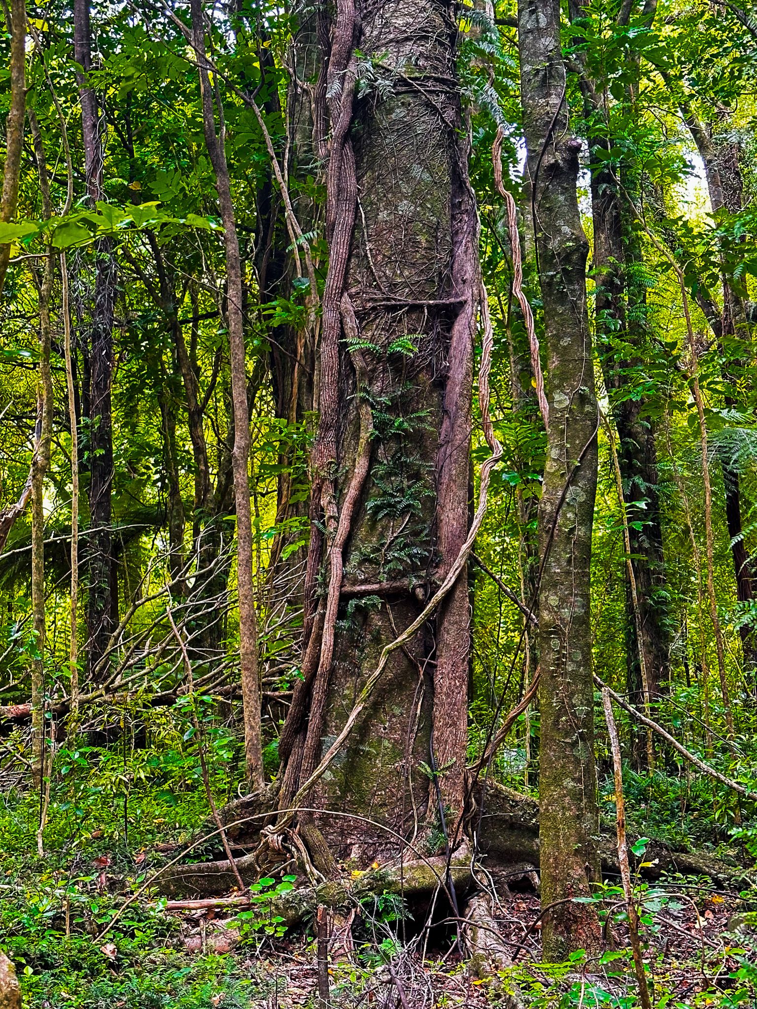
[[[599,875],[589,626],[598,410],[585,295],[588,243],[576,196],[556,0],[520,0],[521,101],[544,311],[549,427],[539,510],[539,794],[544,956],[593,949],[586,896]]]

